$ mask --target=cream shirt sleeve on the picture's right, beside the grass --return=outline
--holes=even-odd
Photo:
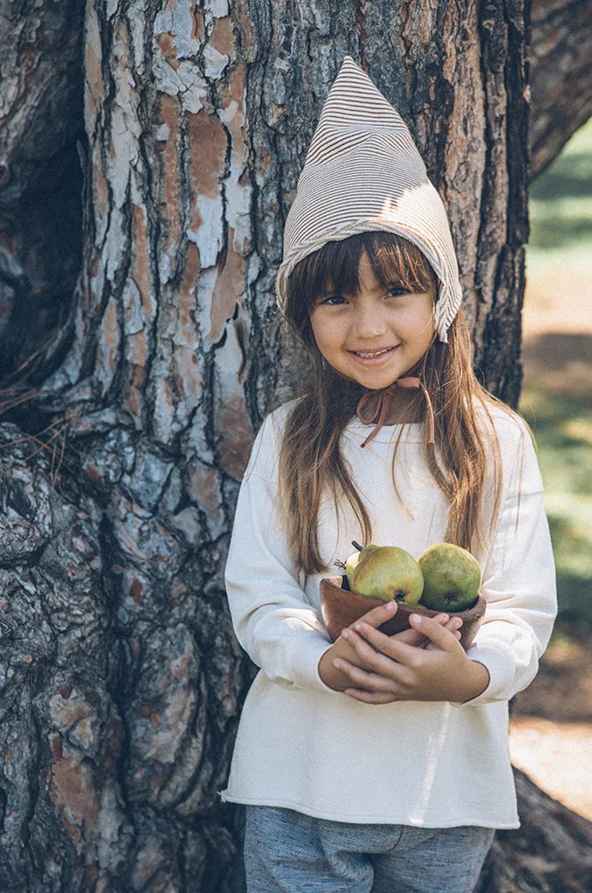
[[[538,671],[557,613],[555,569],[543,483],[528,431],[507,421],[500,437],[504,501],[480,592],[488,606],[467,654],[489,672],[488,688],[466,705],[509,700]],[[517,436],[516,436],[517,435]],[[505,480],[505,477],[508,480]]]

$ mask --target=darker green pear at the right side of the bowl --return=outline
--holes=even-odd
[[[479,563],[453,543],[436,543],[418,558],[423,573],[421,605],[432,611],[464,611],[477,601]]]

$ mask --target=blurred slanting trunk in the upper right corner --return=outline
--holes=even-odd
[[[592,0],[535,0],[530,179],[592,115]]]

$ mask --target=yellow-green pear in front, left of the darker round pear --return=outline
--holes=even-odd
[[[394,599],[417,605],[423,577],[413,555],[396,546],[379,546],[360,556],[350,586],[354,592],[381,598],[384,602]]]

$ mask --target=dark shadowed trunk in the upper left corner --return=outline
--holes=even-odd
[[[63,325],[79,276],[84,6],[0,4],[0,380]]]

